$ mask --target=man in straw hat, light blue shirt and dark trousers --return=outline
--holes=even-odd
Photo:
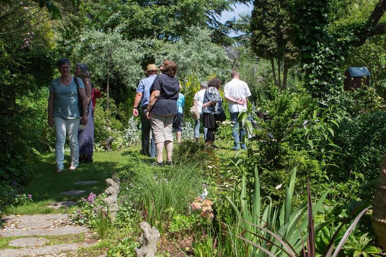
[[[155,77],[158,74],[158,69],[154,64],[149,64],[146,69],[146,78],[139,81],[137,92],[135,94],[134,106],[133,106],[133,115],[135,117],[140,113],[141,119],[141,151],[140,154],[155,157],[155,142],[152,137],[150,140],[150,120],[146,118],[146,108],[150,99],[150,88],[154,82]],[[140,102],[140,105],[139,105]],[[138,110],[139,109],[139,110]]]

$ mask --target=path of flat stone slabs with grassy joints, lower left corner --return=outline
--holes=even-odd
[[[0,237],[8,239],[8,249],[0,250],[2,257],[57,254],[67,256],[66,252],[96,244],[89,229],[72,223],[67,214],[11,215],[4,217],[2,222],[4,226],[0,230]],[[83,234],[83,240],[60,243],[60,240],[55,238],[74,234]]]

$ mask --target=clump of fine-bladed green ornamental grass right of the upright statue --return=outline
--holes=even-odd
[[[202,176],[196,162],[169,168],[140,166],[132,175],[128,198],[143,219],[163,234],[174,215],[189,213],[189,203],[204,188]]]

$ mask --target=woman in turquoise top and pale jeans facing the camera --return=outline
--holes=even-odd
[[[78,86],[76,85],[74,77],[70,74],[70,67],[71,63],[68,58],[59,59],[57,61],[57,68],[59,69],[60,77],[53,79],[50,85],[48,124],[50,127],[55,125],[56,172],[62,172],[64,169],[66,134],[71,151],[70,170],[74,170],[79,165],[78,127],[80,116],[82,115],[83,125],[86,125],[88,122],[85,86],[80,78],[77,78]],[[79,113],[78,92],[83,99],[83,114]]]

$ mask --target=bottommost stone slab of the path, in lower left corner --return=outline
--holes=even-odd
[[[31,248],[22,248],[22,249],[5,249],[0,250],[0,256],[2,257],[14,257],[14,256],[24,256],[24,255],[48,255],[48,254],[57,254],[60,252],[75,251],[79,248],[93,246],[95,244],[88,243],[74,243],[74,244],[59,244],[59,245],[49,245],[42,247],[31,247]]]

